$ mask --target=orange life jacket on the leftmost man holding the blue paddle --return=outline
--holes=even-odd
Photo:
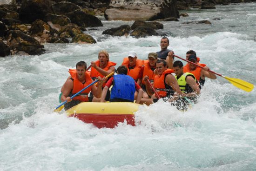
[[[93,80],[90,77],[89,72],[85,72],[85,83],[82,84],[81,81],[77,78],[76,69],[69,69],[69,73],[71,75],[71,78],[73,79],[73,89],[72,94],[79,92],[87,85],[91,84]],[[84,91],[82,91],[78,96],[74,97],[73,100],[79,100],[79,101],[89,101],[88,99],[88,93],[91,91],[92,87],[88,87]]]

